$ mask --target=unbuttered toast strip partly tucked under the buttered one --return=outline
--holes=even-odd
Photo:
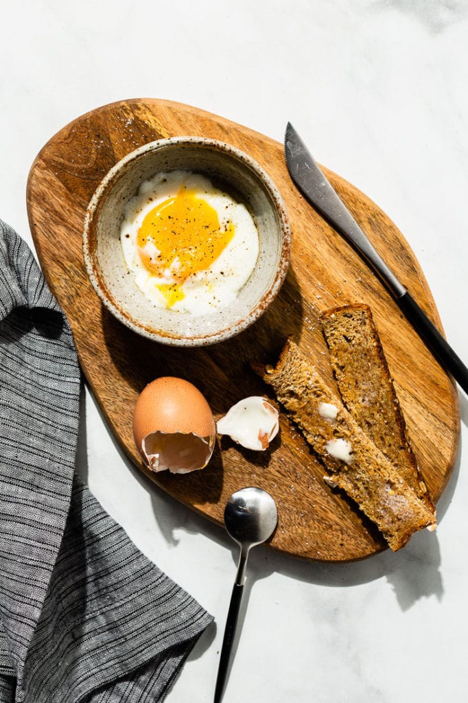
[[[344,406],[434,512],[370,307],[356,303],[333,308],[323,312],[320,322]]]

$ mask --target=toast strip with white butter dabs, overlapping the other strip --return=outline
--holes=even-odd
[[[275,368],[254,368],[273,387],[334,483],[377,524],[392,550],[403,547],[415,531],[436,523],[434,513],[360,429],[292,339],[287,340]],[[322,404],[336,408],[336,417],[327,416]],[[350,447],[349,463],[332,456],[330,440]]]

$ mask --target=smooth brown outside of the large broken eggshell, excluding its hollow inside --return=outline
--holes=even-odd
[[[162,376],[145,386],[136,401],[133,428],[140,452],[143,438],[151,432],[192,432],[199,437],[216,433],[211,408],[202,393],[174,376]]]

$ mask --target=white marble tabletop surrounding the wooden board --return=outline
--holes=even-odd
[[[313,153],[382,207],[468,360],[468,2],[140,0],[2,4],[0,217],[30,243],[27,174],[78,115],[131,97],[195,105]],[[436,534],[324,566],[252,552],[225,703],[464,700],[467,397]],[[105,508],[215,617],[167,697],[211,702],[235,548],[124,460],[89,394],[79,470]]]

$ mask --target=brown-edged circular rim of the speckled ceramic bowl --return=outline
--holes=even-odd
[[[270,195],[270,198],[275,207],[275,211],[278,215],[279,228],[282,233],[280,261],[278,264],[278,269],[275,271],[275,278],[273,279],[273,283],[268,288],[268,290],[264,292],[264,295],[262,295],[261,299],[259,299],[259,301],[255,304],[255,307],[249,310],[249,312],[243,318],[233,324],[228,325],[227,327],[221,330],[214,330],[209,333],[195,334],[190,337],[177,336],[174,335],[174,333],[166,334],[162,332],[162,330],[149,330],[144,325],[138,324],[138,322],[136,322],[134,318],[131,318],[131,316],[125,313],[124,309],[119,308],[117,304],[115,304],[115,302],[112,302],[102,290],[100,281],[98,280],[98,276],[96,275],[91,254],[90,243],[91,225],[96,215],[98,205],[100,204],[100,200],[105,191],[107,191],[108,187],[112,184],[112,181],[117,178],[122,169],[132,161],[140,159],[142,156],[145,155],[145,153],[152,153],[157,150],[167,148],[169,146],[184,145],[202,146],[204,148],[212,147],[214,150],[219,150],[230,157],[234,157],[236,160],[238,160],[238,162],[241,162],[243,165],[249,167],[249,169],[251,169],[252,172],[256,174],[259,181],[261,181],[262,186],[266,188],[266,191]],[[227,340],[230,337],[237,336],[243,330],[247,329],[250,325],[252,325],[259,317],[261,317],[261,315],[268,308],[271,302],[273,302],[273,299],[275,299],[276,295],[278,295],[278,292],[280,291],[280,288],[282,287],[282,284],[285,281],[287,270],[290,265],[291,228],[289,217],[287,215],[286,207],[283,202],[280,191],[278,190],[277,186],[275,186],[275,183],[273,183],[271,176],[268,175],[266,170],[261,167],[261,165],[259,165],[259,163],[256,162],[254,158],[249,156],[244,151],[240,150],[238,147],[235,147],[227,142],[220,141],[218,139],[212,139],[203,136],[164,137],[161,139],[155,139],[153,141],[147,142],[142,146],[139,146],[138,148],[132,150],[128,154],[124,155],[122,159],[119,159],[119,161],[117,161],[115,165],[113,165],[109,169],[105,176],[103,176],[103,179],[100,180],[98,186],[96,187],[96,190],[91,196],[91,200],[89,200],[88,206],[86,207],[82,236],[82,250],[84,254],[84,264],[86,267],[86,273],[89,276],[89,280],[91,281],[93,289],[97,293],[101,302],[103,302],[105,308],[107,308],[108,311],[110,311],[110,313],[115,316],[122,324],[124,324],[127,328],[133,330],[138,335],[146,337],[147,339],[150,339],[152,341],[159,342],[160,344],[166,344],[172,347],[202,347],[207,344],[214,344],[223,340]]]

